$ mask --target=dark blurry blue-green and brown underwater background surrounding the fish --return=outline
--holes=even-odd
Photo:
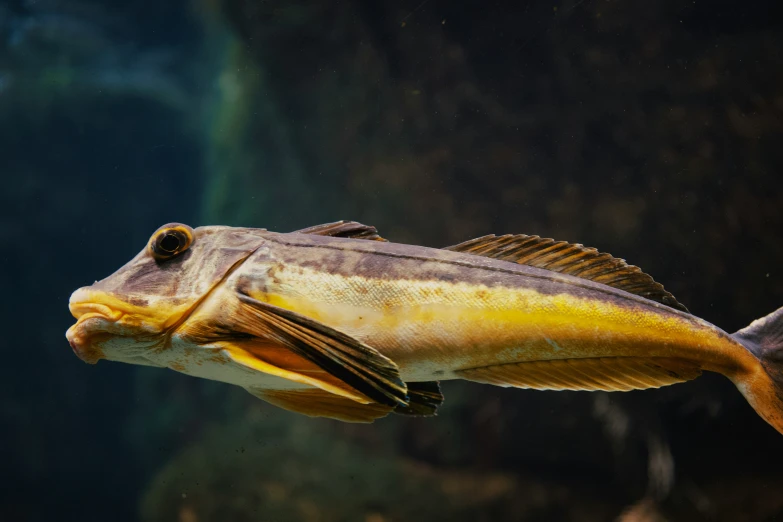
[[[782,145],[772,0],[2,0],[0,520],[783,520],[717,375],[352,425],[64,337],[163,223],[339,219],[594,246],[734,331],[783,305]]]

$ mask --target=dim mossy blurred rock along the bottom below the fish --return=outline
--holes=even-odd
[[[565,484],[389,459],[328,424],[265,408],[211,428],[152,481],[143,520],[599,521],[612,510],[595,498],[569,509]]]

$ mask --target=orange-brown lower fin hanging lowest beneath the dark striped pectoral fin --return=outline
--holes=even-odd
[[[247,388],[251,394],[270,404],[307,415],[343,422],[370,423],[387,416],[393,409],[385,404],[360,404],[318,388],[301,390],[262,390]]]

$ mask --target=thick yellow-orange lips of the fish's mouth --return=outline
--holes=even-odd
[[[88,364],[95,364],[105,355],[97,341],[111,337],[111,329],[124,315],[122,311],[90,300],[89,292],[79,289],[68,303],[76,324],[68,328],[65,338],[76,356]]]

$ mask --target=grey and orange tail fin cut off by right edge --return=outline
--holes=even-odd
[[[783,308],[731,336],[761,362],[760,371],[735,379],[756,413],[783,433]]]

